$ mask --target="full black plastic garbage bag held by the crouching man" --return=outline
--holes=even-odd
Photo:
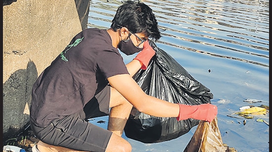
[[[171,103],[199,105],[211,103],[213,94],[196,81],[175,59],[154,42],[149,41],[156,54],[146,70],[139,70],[134,79],[146,94]],[[160,110],[160,109],[158,109]],[[187,133],[199,120],[153,117],[133,107],[124,131],[128,138],[143,143],[172,140]]]

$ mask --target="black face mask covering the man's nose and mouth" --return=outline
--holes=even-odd
[[[136,47],[131,39],[128,40],[122,40],[119,44],[118,44],[118,48],[120,49],[121,52],[123,52],[124,54],[126,54],[127,56],[129,55],[133,55],[137,52],[140,52],[143,48],[138,48]]]

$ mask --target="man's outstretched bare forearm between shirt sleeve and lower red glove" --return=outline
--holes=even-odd
[[[132,72],[132,71],[131,71]],[[180,107],[153,96],[147,95],[129,74],[108,78],[110,85],[119,91],[136,109],[155,117],[178,117]]]

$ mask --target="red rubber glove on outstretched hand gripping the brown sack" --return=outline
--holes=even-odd
[[[177,117],[178,121],[193,118],[196,120],[202,120],[212,122],[217,115],[217,106],[210,103],[200,105],[180,105],[180,114]]]

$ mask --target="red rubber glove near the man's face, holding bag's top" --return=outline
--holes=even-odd
[[[143,49],[140,53],[137,54],[137,56],[134,58],[134,60],[138,60],[142,63],[141,69],[145,70],[147,68],[147,65],[151,58],[155,55],[155,51],[153,48],[149,45],[148,40],[143,42]]]

